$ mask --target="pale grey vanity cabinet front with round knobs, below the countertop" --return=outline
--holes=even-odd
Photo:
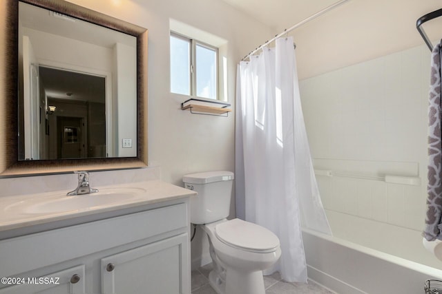
[[[46,277],[0,294],[190,294],[189,198],[143,209],[0,240],[0,277]]]

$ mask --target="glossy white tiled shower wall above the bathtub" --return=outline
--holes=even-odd
[[[316,169],[419,176],[420,186],[317,176],[325,209],[421,230],[430,52],[396,52],[300,81]]]

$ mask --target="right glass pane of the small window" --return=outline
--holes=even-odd
[[[216,99],[216,51],[196,45],[196,95]]]

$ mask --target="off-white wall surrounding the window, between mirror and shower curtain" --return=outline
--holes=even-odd
[[[233,171],[234,116],[190,114],[186,96],[169,90],[169,19],[192,25],[229,42],[228,100],[234,105],[236,63],[269,29],[218,0],[71,0],[148,29],[148,156],[162,178],[182,185],[195,171]]]

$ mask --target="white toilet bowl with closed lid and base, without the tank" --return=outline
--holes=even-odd
[[[209,282],[218,294],[265,294],[262,270],[281,255],[271,231],[238,218],[205,224],[215,257]],[[217,268],[219,266],[219,268]]]

